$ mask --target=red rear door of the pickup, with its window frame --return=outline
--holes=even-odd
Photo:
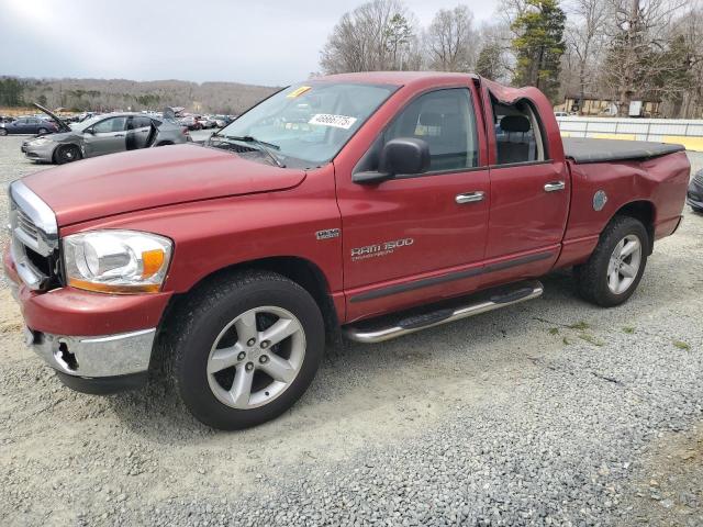
[[[556,261],[569,212],[563,157],[553,158],[536,108],[490,101],[491,212],[482,285],[538,277]]]

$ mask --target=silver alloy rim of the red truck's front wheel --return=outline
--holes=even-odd
[[[270,403],[293,382],[305,357],[305,332],[282,307],[261,306],[230,322],[208,357],[208,383],[230,407]]]

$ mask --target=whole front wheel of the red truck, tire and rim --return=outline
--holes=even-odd
[[[249,272],[190,300],[168,333],[172,381],[196,418],[246,428],[300,399],[324,350],[322,314],[308,291],[280,274]]]

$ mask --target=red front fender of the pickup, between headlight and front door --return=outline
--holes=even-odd
[[[64,227],[60,235],[129,228],[167,236],[174,256],[164,291],[182,293],[230,266],[270,257],[298,257],[317,266],[334,294],[342,290],[341,228],[332,164],[308,173],[299,187],[278,192],[203,200],[121,214]]]

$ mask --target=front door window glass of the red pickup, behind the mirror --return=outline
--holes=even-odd
[[[429,170],[457,170],[478,165],[476,115],[468,89],[438,90],[415,99],[383,134],[383,144],[415,137],[429,146]]]

